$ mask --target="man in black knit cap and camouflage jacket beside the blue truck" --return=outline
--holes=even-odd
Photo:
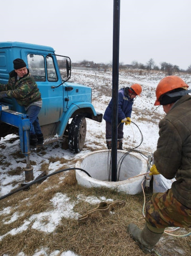
[[[33,75],[26,68],[26,63],[17,58],[13,64],[14,70],[9,73],[8,83],[0,84],[0,98],[14,97],[19,105],[25,107],[31,123],[30,147],[35,148],[37,144],[43,144],[43,134],[38,122],[38,113],[42,107],[41,93]]]

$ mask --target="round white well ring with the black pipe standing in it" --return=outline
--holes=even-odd
[[[126,154],[126,151],[118,150],[117,177],[119,177],[119,181],[114,182],[109,179],[111,177],[110,153],[109,150],[98,150],[82,157],[76,163],[76,168],[84,169],[91,177],[85,174],[85,172],[76,170],[78,184],[86,187],[106,186],[117,189],[118,191],[124,191],[127,194],[139,193],[142,190],[141,183],[144,180],[144,176],[129,178],[147,172],[146,159],[143,159],[138,153]]]

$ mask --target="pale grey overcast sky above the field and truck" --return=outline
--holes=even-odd
[[[1,1],[0,41],[51,46],[72,62],[111,62],[113,0]],[[191,0],[121,0],[119,62],[191,65]]]

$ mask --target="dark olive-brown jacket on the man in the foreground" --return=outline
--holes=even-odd
[[[191,208],[191,96],[182,96],[159,123],[154,152],[157,170],[172,184],[174,197]]]

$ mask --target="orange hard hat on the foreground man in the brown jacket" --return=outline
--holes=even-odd
[[[156,97],[157,100],[154,103],[154,106],[160,105],[161,95],[168,93],[177,88],[187,89],[189,86],[177,75],[169,75],[163,78],[157,85],[156,88]]]

